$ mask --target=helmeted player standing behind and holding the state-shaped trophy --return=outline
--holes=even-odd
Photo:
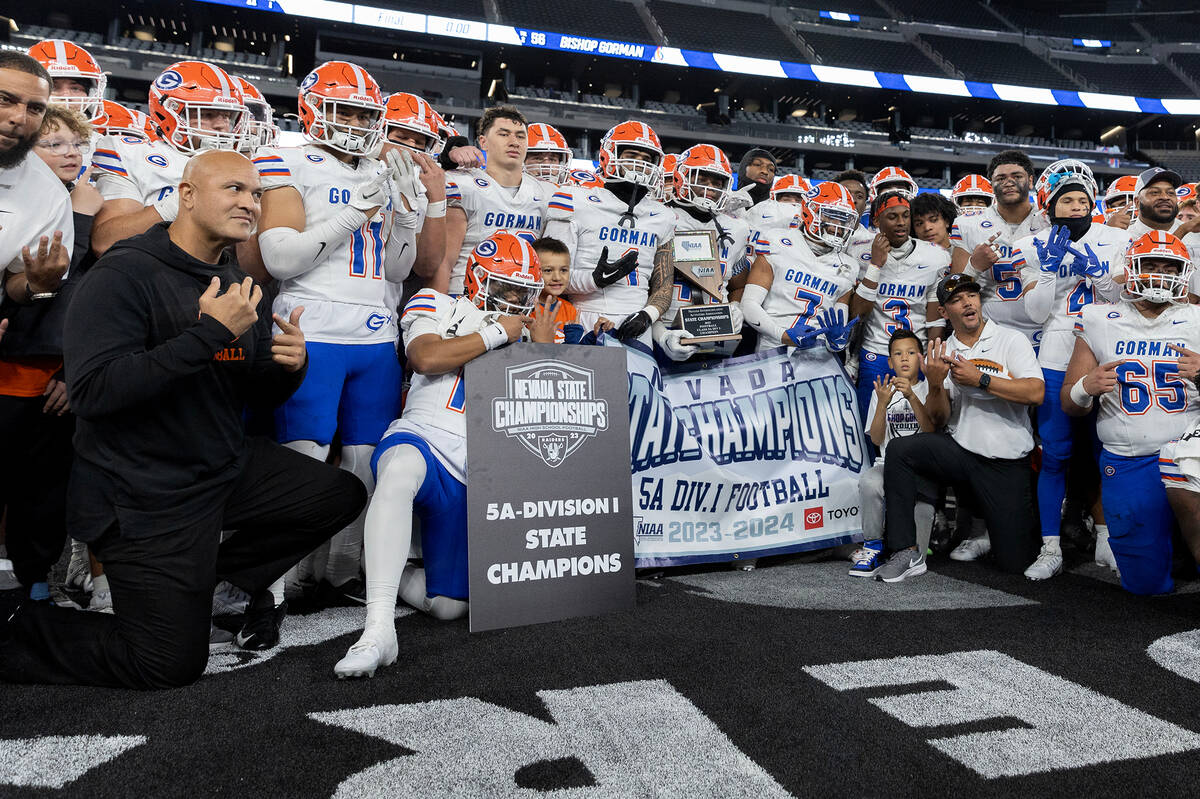
[[[688,148],[676,158],[674,175],[668,181],[673,198],[676,230],[713,230],[716,233],[716,256],[721,265],[721,298],[706,294],[683,277],[676,277],[674,300],[667,312],[654,323],[654,341],[671,360],[685,361],[701,352],[688,344],[682,329],[672,329],[680,306],[728,301],[731,293],[745,286],[749,274],[750,226],[742,218],[724,212],[733,184],[730,160],[713,144]],[[702,295],[697,298],[697,295]],[[730,304],[733,332],[742,331],[742,307]],[[712,352],[712,348],[710,350]]]

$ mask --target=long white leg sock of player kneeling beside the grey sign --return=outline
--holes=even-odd
[[[413,500],[425,482],[425,456],[401,444],[379,458],[379,482],[367,505],[362,565],[367,575],[366,631],[395,633],[396,594],[408,564],[413,536]]]

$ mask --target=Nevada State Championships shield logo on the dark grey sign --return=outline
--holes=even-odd
[[[492,429],[515,438],[548,467],[608,429],[608,403],[595,396],[592,370],[534,361],[505,370],[508,396],[492,401]]]

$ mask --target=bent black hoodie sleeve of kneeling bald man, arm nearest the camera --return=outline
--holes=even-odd
[[[92,269],[72,298],[62,337],[71,408],[92,419],[152,402],[174,380],[200,372],[233,335],[200,316],[174,338],[146,349],[149,301],[126,275]]]

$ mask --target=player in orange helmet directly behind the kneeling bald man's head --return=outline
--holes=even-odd
[[[162,139],[107,136],[96,144],[96,187],[104,196],[91,230],[97,256],[152,224],[175,221],[184,164],[202,150],[241,146],[246,106],[238,82],[221,67],[179,61],[150,84],[150,116]]]

